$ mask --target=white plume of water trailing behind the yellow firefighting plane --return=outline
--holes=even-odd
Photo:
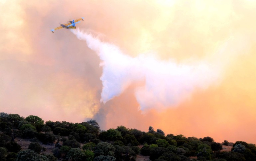
[[[140,108],[164,108],[177,105],[188,99],[195,88],[207,88],[218,79],[218,72],[207,61],[178,64],[173,60],[159,60],[153,54],[132,58],[90,33],[79,29],[70,31],[85,40],[102,60],[101,101],[104,103],[120,95],[131,83],[143,81],[145,84],[135,89]]]

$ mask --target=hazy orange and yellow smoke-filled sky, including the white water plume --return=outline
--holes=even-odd
[[[255,1],[1,0],[0,13],[1,112],[256,143]]]

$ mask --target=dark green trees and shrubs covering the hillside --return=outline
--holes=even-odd
[[[28,149],[22,149],[15,138],[31,141]],[[45,154],[46,145],[55,148]],[[138,154],[150,156],[154,161],[256,160],[255,144],[236,141],[229,152],[221,152],[222,145],[232,143],[221,144],[210,137],[165,135],[153,127],[149,127],[148,132],[124,126],[102,131],[95,120],[44,122],[38,116],[23,118],[18,114],[0,113],[1,161],[129,161],[136,160]]]

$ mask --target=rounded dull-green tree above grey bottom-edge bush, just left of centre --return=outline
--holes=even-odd
[[[111,155],[114,156],[115,153],[115,147],[107,142],[100,142],[96,145],[94,153],[96,156],[99,155]]]

